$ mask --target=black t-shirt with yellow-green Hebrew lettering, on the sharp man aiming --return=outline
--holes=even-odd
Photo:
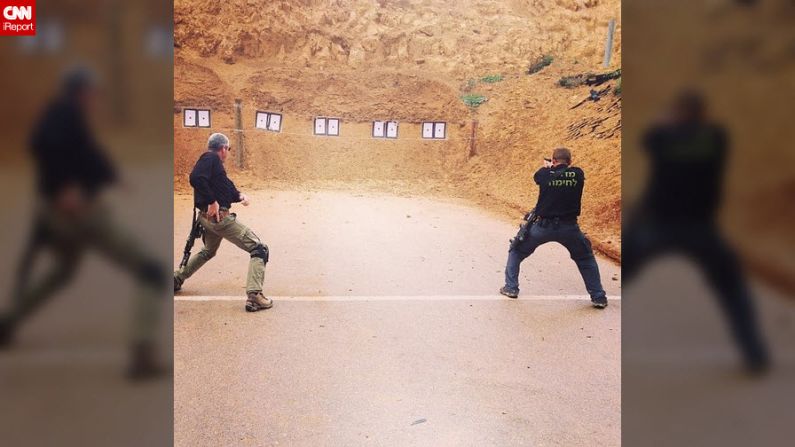
[[[580,215],[585,185],[582,169],[566,165],[541,168],[533,179],[539,188],[537,216],[574,219]]]

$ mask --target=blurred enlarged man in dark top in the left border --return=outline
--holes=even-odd
[[[140,287],[128,369],[130,378],[140,379],[161,372],[154,337],[158,296],[167,276],[164,266],[142,252],[140,244],[112,220],[100,198],[118,177],[90,126],[98,94],[92,71],[69,70],[58,96],[34,127],[30,150],[39,203],[18,265],[12,308],[0,316],[0,347],[9,347],[20,325],[73,280],[83,254],[93,249],[134,275]],[[34,279],[32,272],[44,250],[51,252],[54,262]],[[107,292],[113,299],[114,291]]]

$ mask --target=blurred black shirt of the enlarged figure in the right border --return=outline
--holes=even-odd
[[[646,133],[644,145],[651,160],[647,212],[674,219],[714,217],[726,164],[724,130],[698,123],[658,126]]]

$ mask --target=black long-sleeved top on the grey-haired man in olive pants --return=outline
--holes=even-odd
[[[240,191],[226,176],[224,164],[215,152],[207,151],[199,157],[190,173],[190,185],[197,208],[202,209],[215,201],[222,208],[230,208],[233,203],[240,202]]]

